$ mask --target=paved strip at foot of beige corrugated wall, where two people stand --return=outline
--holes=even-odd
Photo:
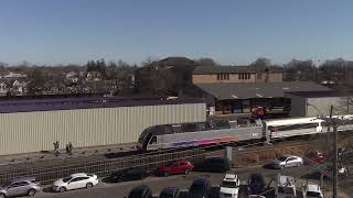
[[[107,153],[121,153],[121,152],[131,152],[131,151],[136,151],[136,143],[78,147],[73,150],[72,155],[66,154],[65,150],[61,150],[58,156],[55,156],[54,151],[2,155],[0,156],[0,166],[38,162],[38,161],[43,162],[43,161],[57,160],[57,158],[63,160],[63,158],[75,158],[75,157],[82,157],[82,156],[104,155]]]

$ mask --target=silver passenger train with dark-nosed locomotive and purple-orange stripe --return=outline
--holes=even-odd
[[[333,118],[347,121],[339,130],[353,129],[353,116]],[[137,147],[143,151],[156,151],[245,141],[270,143],[278,139],[324,133],[325,127],[327,121],[322,118],[237,119],[161,124],[143,130]]]

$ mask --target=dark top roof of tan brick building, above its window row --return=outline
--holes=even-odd
[[[261,67],[261,66],[199,66],[193,70],[195,75],[203,75],[203,74],[221,74],[221,73],[279,73],[280,69],[276,67]]]

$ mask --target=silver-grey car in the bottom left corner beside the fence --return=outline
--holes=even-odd
[[[0,186],[0,198],[15,196],[34,196],[41,190],[35,177],[14,178],[3,186]]]

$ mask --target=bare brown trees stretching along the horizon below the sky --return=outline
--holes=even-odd
[[[153,63],[158,63],[159,59],[147,58],[141,64],[128,64],[122,59],[117,62],[106,62],[104,58],[90,59],[84,65],[31,65],[28,62],[23,62],[15,66],[9,66],[8,64],[0,63],[0,74],[4,75],[9,72],[26,74],[26,78],[23,79],[26,82],[28,95],[42,95],[46,92],[99,92],[99,91],[113,91],[119,94],[121,89],[131,87],[131,76],[137,69],[149,68]],[[203,57],[194,59],[200,66],[221,66],[216,61],[210,57]],[[178,64],[178,63],[175,63]],[[329,81],[340,85],[342,87],[353,87],[353,62],[344,61],[342,58],[329,59],[323,63],[315,64],[311,59],[300,61],[291,59],[284,65],[272,64],[269,58],[260,57],[249,64],[250,66],[260,66],[268,68],[282,69],[284,80],[311,80],[315,82]],[[183,69],[183,68],[181,68]],[[151,72],[151,69],[147,69]],[[186,72],[190,73],[190,70]],[[72,79],[67,78],[68,73],[74,73]],[[94,79],[87,80],[87,74],[93,74]],[[151,73],[151,78],[163,78],[165,84],[170,84],[170,79],[176,78],[181,86],[184,86],[185,78],[184,70],[172,70],[167,76],[161,76],[161,72]],[[182,75],[182,76],[181,76]],[[11,79],[13,80],[13,79]],[[11,81],[6,81],[11,85]],[[160,82],[150,85],[163,87]],[[171,85],[174,86],[174,85]],[[179,85],[178,85],[179,86]],[[165,86],[164,86],[165,87]],[[178,89],[178,87],[174,87]]]

